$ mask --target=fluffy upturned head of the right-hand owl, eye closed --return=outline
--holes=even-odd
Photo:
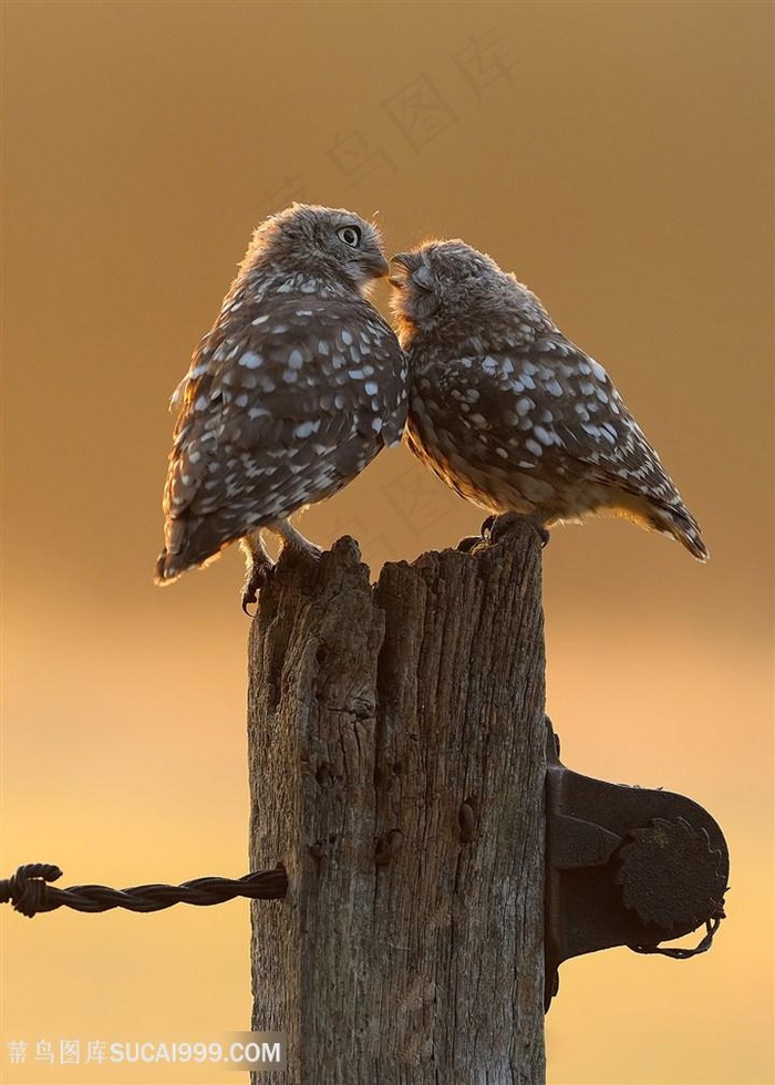
[[[547,321],[540,301],[495,260],[461,240],[425,241],[391,261],[391,307],[404,341],[461,339],[503,321]]]

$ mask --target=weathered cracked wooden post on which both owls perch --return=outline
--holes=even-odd
[[[250,633],[255,1030],[299,1085],[544,1081],[540,544],[285,556]],[[257,1081],[260,1078],[257,1075]]]

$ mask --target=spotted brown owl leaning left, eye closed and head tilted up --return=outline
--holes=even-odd
[[[527,287],[463,241],[393,258],[413,373],[406,441],[462,497],[542,534],[609,512],[709,557],[700,528],[602,365]]]

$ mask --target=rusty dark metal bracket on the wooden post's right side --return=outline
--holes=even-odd
[[[724,918],[730,856],[711,815],[683,795],[609,784],[559,760],[547,716],[545,1006],[562,961],[628,946],[684,959]],[[696,949],[662,949],[702,924]]]

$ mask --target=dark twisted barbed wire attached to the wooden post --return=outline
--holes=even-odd
[[[71,908],[74,911],[101,912],[112,908],[152,912],[173,905],[220,905],[235,897],[250,900],[277,900],[288,891],[288,877],[279,865],[275,870],[247,874],[242,878],[195,878],[179,886],[149,885],[128,889],[110,886],[50,886],[62,877],[59,867],[50,862],[28,862],[17,872],[0,880],[0,903],[10,903],[22,916],[32,918],[39,912]]]

